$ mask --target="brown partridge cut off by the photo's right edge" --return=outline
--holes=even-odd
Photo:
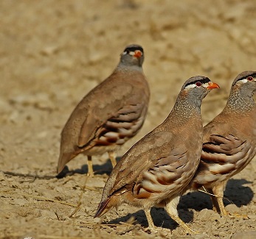
[[[204,126],[201,162],[190,188],[204,186],[211,196],[213,209],[229,215],[223,203],[224,189],[230,177],[248,165],[256,153],[256,71],[239,74],[224,110]]]

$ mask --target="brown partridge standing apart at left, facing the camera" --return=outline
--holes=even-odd
[[[116,165],[116,150],[139,132],[148,113],[143,61],[142,46],[126,46],[112,74],[77,104],[61,132],[58,174],[78,154],[87,156],[89,176],[94,175],[93,155],[108,152]]]

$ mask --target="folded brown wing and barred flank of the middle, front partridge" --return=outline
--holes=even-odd
[[[103,200],[124,187],[135,187],[134,193],[139,194],[142,188],[151,185],[152,191],[165,190],[167,185],[179,179],[187,170],[187,149],[182,143],[173,149],[170,139],[173,140],[171,132],[151,132],[139,140],[112,171]]]

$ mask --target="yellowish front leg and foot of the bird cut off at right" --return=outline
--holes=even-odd
[[[225,188],[225,184],[221,183],[218,185],[218,187],[214,187],[212,188],[212,193],[215,194],[215,199],[213,199],[214,201],[217,202],[218,204],[218,208],[220,210],[220,214],[222,216],[230,216],[230,217],[235,217],[235,218],[244,218],[244,219],[248,219],[247,215],[240,215],[238,213],[229,213],[224,206],[224,202],[223,202],[223,197],[224,197],[224,188]],[[212,201],[213,203],[213,201]]]

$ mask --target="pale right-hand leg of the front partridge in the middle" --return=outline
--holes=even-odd
[[[167,202],[166,206],[165,206],[165,210],[168,213],[168,215],[170,215],[170,217],[176,221],[177,224],[179,224],[179,226],[181,226],[184,231],[190,235],[196,235],[199,232],[194,231],[193,229],[190,228],[190,226],[187,226],[187,224],[184,223],[184,221],[181,220],[181,218],[179,218],[179,214],[178,214],[178,210],[177,210],[177,206],[179,203],[179,196],[177,196],[176,198],[170,200],[169,202]]]

